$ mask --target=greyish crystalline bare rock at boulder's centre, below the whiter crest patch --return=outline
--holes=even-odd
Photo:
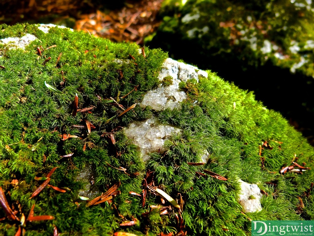
[[[160,124],[157,118],[150,118],[145,121],[134,121],[127,129],[125,134],[133,143],[138,146],[138,150],[142,154],[144,161],[149,159],[149,153],[165,152],[163,148],[165,140],[170,138],[172,134],[181,132],[181,129],[172,125]]]

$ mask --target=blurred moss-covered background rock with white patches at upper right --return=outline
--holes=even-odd
[[[203,51],[196,54],[228,57],[232,52],[251,65],[271,60],[292,73],[314,76],[311,0],[168,0],[163,4],[160,31],[179,33],[194,46],[201,45]]]

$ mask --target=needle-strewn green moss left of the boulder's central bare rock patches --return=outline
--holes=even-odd
[[[116,133],[116,149],[121,153],[116,158],[116,151],[106,138],[100,137],[102,132],[111,131],[116,126],[124,126],[133,120],[142,120],[151,116],[149,110],[136,107],[121,117],[115,117],[118,108],[110,104],[109,97],[116,98],[120,92],[125,95],[138,86],[137,91],[130,93],[120,104],[129,107],[138,103],[143,94],[158,84],[158,72],[167,54],[161,50],[145,48],[146,58],[138,54],[138,46],[132,43],[112,43],[106,39],[91,37],[87,33],[51,28],[45,34],[38,25],[0,25],[0,38],[21,37],[31,33],[38,37],[26,47],[26,50],[7,50],[1,47],[3,56],[0,65],[0,184],[5,192],[10,191],[9,202],[16,200],[27,214],[33,203],[36,203],[35,214],[47,214],[56,217],[50,222],[32,222],[26,227],[27,235],[51,235],[54,223],[61,232],[76,232],[84,235],[111,235],[119,227],[121,218],[110,207],[85,208],[84,203],[77,209],[74,201],[78,199],[81,183],[74,181],[78,168],[86,163],[94,165],[100,190],[107,185],[121,181],[121,194],[115,199],[118,210],[126,217],[138,217],[144,212],[137,199],[131,204],[125,203],[129,191],[141,191],[141,178],[129,177],[121,171],[108,167],[123,166],[128,173],[144,173],[136,146],[126,139],[123,133]],[[36,48],[42,45],[50,48],[38,57]],[[62,53],[57,63],[59,54]],[[131,60],[135,59],[137,65]],[[52,59],[44,63],[45,57]],[[120,61],[118,61],[119,59]],[[130,59],[130,60],[128,60]],[[57,64],[56,64],[57,63]],[[62,82],[61,70],[65,83]],[[62,91],[53,93],[44,84],[46,81]],[[78,113],[71,116],[75,93],[78,93],[79,108],[95,105],[92,114]],[[102,98],[99,99],[97,95]],[[23,98],[23,99],[21,99]],[[86,118],[97,129],[87,136],[86,131],[73,129],[74,124],[83,124]],[[53,132],[56,128],[57,132]],[[69,133],[83,139],[69,138],[61,141],[60,134]],[[83,145],[87,149],[83,152]],[[75,153],[71,158],[60,155]],[[46,156],[46,161],[44,160]],[[29,200],[30,194],[40,183],[34,181],[35,176],[48,173],[53,166],[59,166],[51,177],[51,185],[68,187],[72,191],[58,194],[46,188],[35,199]],[[12,179],[18,179],[19,185],[13,188]],[[2,212],[2,210],[0,210]],[[17,225],[12,222],[0,223],[1,235],[14,235]],[[133,231],[138,226],[133,227]]]

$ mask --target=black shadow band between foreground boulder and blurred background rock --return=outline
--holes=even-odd
[[[165,40],[166,38],[166,40]],[[200,69],[212,70],[238,87],[254,91],[256,99],[262,101],[268,109],[279,111],[290,124],[303,133],[314,145],[314,80],[300,73],[292,74],[268,61],[262,66],[248,65],[245,59],[239,59],[236,53],[204,53],[197,42],[184,41],[180,35],[158,32],[150,48],[162,48],[173,59],[183,59],[186,63],[197,65]],[[162,42],[167,41],[167,44]],[[180,42],[180,43],[178,43]],[[171,46],[169,46],[171,45]]]

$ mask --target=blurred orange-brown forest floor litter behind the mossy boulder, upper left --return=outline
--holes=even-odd
[[[156,32],[162,20],[159,17],[159,10],[163,0],[103,2],[109,1],[0,0],[0,24],[53,23],[87,31],[96,37],[104,37],[113,42],[136,42],[143,46],[144,38]],[[218,75],[221,76],[219,73]],[[227,77],[224,79],[232,80]],[[242,88],[251,90],[251,87]],[[265,105],[271,104],[263,100],[262,102],[266,102]],[[276,107],[269,108],[285,113]],[[295,117],[285,116],[314,146],[314,131],[306,124],[299,124]]]

